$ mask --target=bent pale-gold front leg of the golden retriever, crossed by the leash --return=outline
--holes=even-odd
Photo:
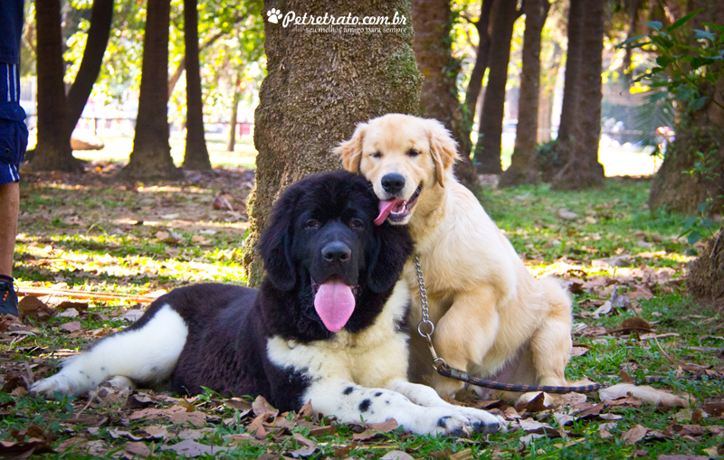
[[[440,318],[433,334],[435,351],[448,365],[463,371],[469,364],[481,365],[498,333],[496,300],[490,285],[454,295],[450,310]],[[464,383],[435,373],[432,385],[441,396],[453,397]]]

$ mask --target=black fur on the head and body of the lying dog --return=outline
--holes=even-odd
[[[319,284],[339,277],[357,286],[356,307],[345,326],[349,332],[374,322],[413,249],[405,227],[377,227],[376,214],[371,185],[355,174],[319,174],[296,183],[275,205],[262,235],[267,276],[259,291],[218,284],[178,288],[159,297],[130,329],[171,305],[188,327],[173,390],[195,394],[204,386],[235,396],[261,394],[281,410],[299,409],[309,378],[272,364],[267,340],[280,335],[310,343],[332,336],[314,309],[312,278]],[[318,225],[310,227],[310,221]],[[344,267],[319,261],[329,241],[351,249]]]

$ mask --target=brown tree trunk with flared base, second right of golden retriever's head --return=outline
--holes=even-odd
[[[538,89],[540,88],[540,33],[546,23],[548,0],[526,0],[526,32],[523,38],[523,69],[520,73],[518,127],[510,168],[500,176],[500,187],[538,183]]]

